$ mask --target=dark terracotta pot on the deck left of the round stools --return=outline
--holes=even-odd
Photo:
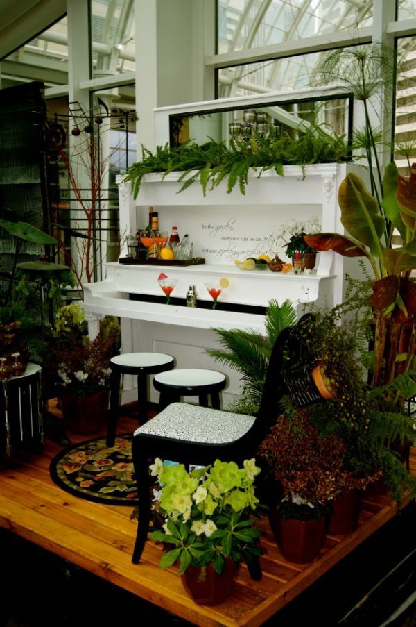
[[[97,433],[107,420],[109,392],[94,392],[89,396],[60,397],[64,426],[70,433]]]

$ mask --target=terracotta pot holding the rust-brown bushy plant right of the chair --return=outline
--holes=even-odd
[[[270,525],[281,554],[289,562],[304,564],[318,557],[325,539],[326,519],[297,520],[270,515]]]

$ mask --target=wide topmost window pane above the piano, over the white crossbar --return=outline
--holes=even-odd
[[[372,26],[372,0],[218,0],[218,53],[345,31],[357,24]]]

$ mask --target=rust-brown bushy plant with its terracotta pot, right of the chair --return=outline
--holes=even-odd
[[[311,562],[317,557],[334,499],[372,480],[354,476],[346,457],[346,442],[336,432],[321,433],[305,408],[286,406],[259,446],[259,459],[275,479],[279,495],[270,503],[270,526],[289,561]],[[353,517],[358,523],[357,507]]]

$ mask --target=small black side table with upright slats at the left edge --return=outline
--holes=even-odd
[[[0,381],[0,453],[43,447],[42,368],[31,362],[21,376]]]

